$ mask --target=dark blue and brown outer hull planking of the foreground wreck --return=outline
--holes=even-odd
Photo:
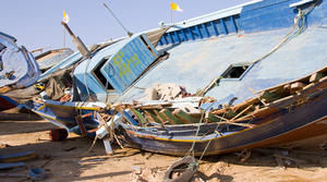
[[[288,100],[275,106],[276,112],[244,123],[257,124],[253,129],[227,126],[221,124],[214,133],[216,124],[203,124],[198,136],[197,125],[166,126],[165,129],[137,128],[120,123],[119,133],[131,147],[153,153],[184,156],[195,141],[194,153],[217,155],[222,153],[271,147],[281,144],[307,139],[327,134],[327,82],[320,83],[304,93],[307,102],[299,107],[283,108]],[[314,90],[316,89],[316,90]],[[282,107],[281,107],[282,106]],[[274,108],[272,108],[274,109]],[[207,135],[207,133],[211,133]]]

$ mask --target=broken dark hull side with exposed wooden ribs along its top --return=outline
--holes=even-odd
[[[116,120],[113,125],[120,143],[177,156],[294,147],[293,142],[327,134],[326,88],[327,68],[262,90],[242,104],[207,108],[199,113],[187,113],[167,104],[124,105],[136,121]]]

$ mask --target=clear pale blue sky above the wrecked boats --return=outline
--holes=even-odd
[[[250,0],[174,0],[183,12],[173,12],[173,22],[192,19]],[[89,46],[125,36],[105,9],[108,7],[132,33],[170,22],[170,0],[1,0],[0,31],[17,38],[28,50],[63,46],[63,10],[69,26]],[[66,34],[66,46],[73,48]]]

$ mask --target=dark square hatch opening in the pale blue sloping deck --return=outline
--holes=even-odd
[[[238,63],[231,64],[229,68],[221,74],[223,78],[241,78],[243,74],[250,69],[251,63]]]

